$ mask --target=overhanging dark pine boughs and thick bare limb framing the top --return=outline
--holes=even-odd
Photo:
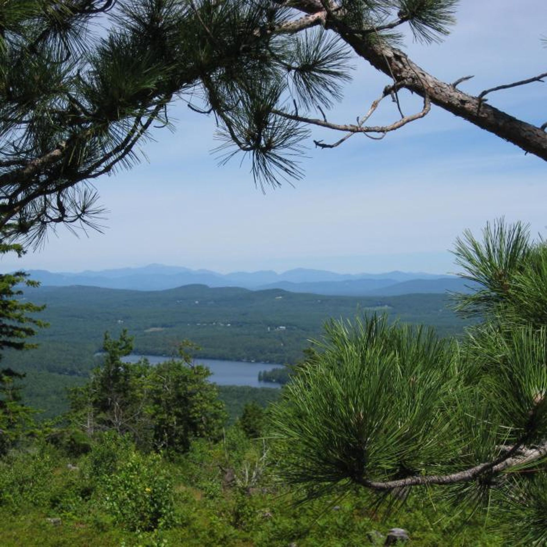
[[[302,176],[298,156],[310,127],[382,138],[435,104],[527,153],[547,159],[547,136],[490,106],[484,90],[444,83],[398,49],[400,30],[440,40],[456,0],[11,0],[0,6],[0,229],[37,242],[48,226],[97,226],[92,181],[138,160],[169,109],[185,101],[213,114],[223,161],[249,156],[259,184]],[[362,60],[389,78],[364,117],[336,124],[340,100]],[[423,97],[403,115],[400,94]],[[369,125],[385,98],[394,121]]]

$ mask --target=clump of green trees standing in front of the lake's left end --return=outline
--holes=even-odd
[[[226,420],[210,371],[191,363],[185,348],[181,360],[151,366],[146,359],[125,363],[132,338],[104,336],[103,365],[91,381],[71,392],[72,421],[88,435],[112,429],[130,434],[143,449],[185,452],[195,438],[219,437]]]

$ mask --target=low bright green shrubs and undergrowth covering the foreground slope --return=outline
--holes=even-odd
[[[115,434],[97,437],[92,445],[91,452],[75,459],[41,446],[32,453],[14,451],[9,465],[0,461],[3,545],[286,547],[296,542],[305,547],[357,547],[369,537],[382,544],[394,526],[407,529],[412,542],[424,547],[497,547],[505,539],[499,522],[485,528],[476,517],[454,514],[445,502],[433,509],[430,503],[410,501],[406,511],[385,521],[362,492],[295,506],[293,493],[271,480],[268,470],[275,469],[270,467],[275,461],[263,459],[263,441],[248,440],[237,427],[226,430],[220,443],[198,440],[176,462],[136,456],[131,441]],[[139,463],[129,465],[133,459]],[[138,476],[130,475],[130,469],[138,469]],[[261,472],[255,473],[257,469]],[[114,478],[118,470],[124,470],[124,480]],[[226,480],[228,470],[235,477],[232,482]],[[166,504],[148,504],[149,498],[143,497],[154,484],[152,471],[168,477],[161,483],[167,487]],[[141,480],[147,474],[152,483]],[[112,498],[107,499],[107,492]],[[127,499],[128,492],[135,501]],[[126,505],[114,515],[110,499]],[[144,531],[143,523],[153,522],[158,507],[166,508],[170,518],[160,517],[160,528]],[[439,522],[440,516],[446,519]],[[46,519],[60,519],[61,525]],[[138,532],[131,522],[137,523]]]

